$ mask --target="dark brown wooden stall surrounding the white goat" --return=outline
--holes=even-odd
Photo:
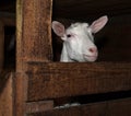
[[[15,61],[14,67],[5,67],[0,73],[0,116],[131,115],[129,0],[12,0],[10,3],[8,10],[1,11],[13,9],[15,13]],[[61,42],[53,36],[51,21],[91,23],[102,15],[108,15],[109,22],[95,35],[98,60],[59,62]],[[67,103],[80,104],[57,108]]]

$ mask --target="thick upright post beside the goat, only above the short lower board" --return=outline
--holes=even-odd
[[[51,0],[17,1],[17,71],[25,61],[51,60]]]

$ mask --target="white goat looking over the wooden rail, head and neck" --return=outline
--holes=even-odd
[[[94,44],[93,33],[100,31],[107,23],[108,18],[102,16],[91,25],[87,23],[74,23],[67,30],[58,21],[52,22],[53,32],[63,40],[60,61],[95,61],[98,56]]]

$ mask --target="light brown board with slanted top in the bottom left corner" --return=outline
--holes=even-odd
[[[13,115],[13,103],[14,103],[14,74],[8,74],[7,82],[0,91],[0,116],[14,116]]]

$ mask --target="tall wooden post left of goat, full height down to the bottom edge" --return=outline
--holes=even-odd
[[[15,116],[24,116],[27,97],[27,61],[52,59],[52,0],[16,1]]]

